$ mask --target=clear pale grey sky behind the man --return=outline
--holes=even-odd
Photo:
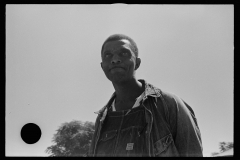
[[[95,122],[114,92],[100,63],[115,33],[136,42],[138,79],[192,107],[203,155],[219,152],[233,142],[233,22],[233,5],[6,5],[5,155],[48,156],[62,123]]]

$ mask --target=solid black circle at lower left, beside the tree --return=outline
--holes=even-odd
[[[34,144],[41,137],[41,129],[34,123],[27,123],[21,129],[22,140],[27,144]]]

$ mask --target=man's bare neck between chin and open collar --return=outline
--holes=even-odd
[[[134,101],[138,96],[142,94],[145,86],[137,79],[124,83],[114,83],[113,86],[116,92],[116,101]]]

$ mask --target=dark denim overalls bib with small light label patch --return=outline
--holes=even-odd
[[[145,156],[144,107],[109,112],[96,146],[96,156]]]

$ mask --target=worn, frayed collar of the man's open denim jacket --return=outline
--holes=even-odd
[[[159,88],[153,86],[150,83],[147,83],[147,81],[145,81],[144,79],[139,79],[138,81],[141,82],[142,84],[145,84],[145,91],[144,91],[144,96],[143,96],[142,101],[145,101],[148,96],[160,97],[160,89]],[[105,109],[108,109],[111,106],[110,104],[112,104],[115,97],[116,97],[116,92],[114,92],[112,94],[110,100],[107,102],[107,104],[103,108],[101,108],[99,111],[96,111],[94,113],[101,114],[102,112],[104,112]],[[105,110],[105,113],[106,112],[107,112],[107,110]]]

